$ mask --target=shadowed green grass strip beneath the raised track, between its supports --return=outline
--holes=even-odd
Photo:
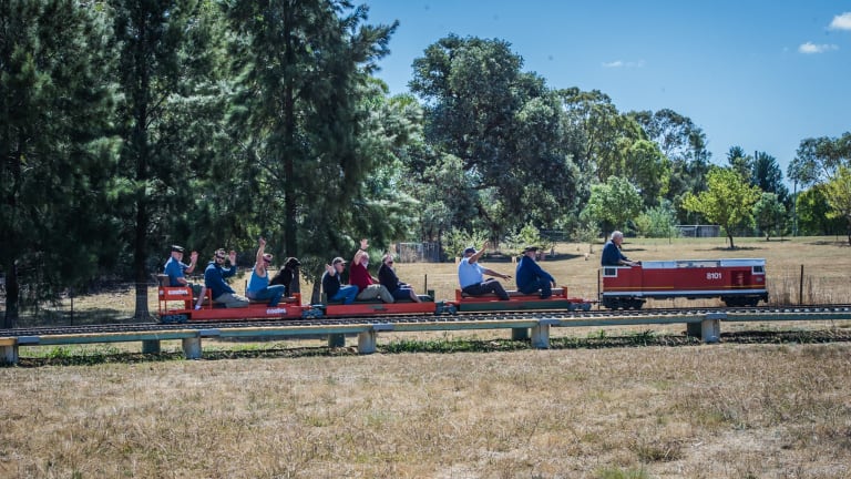
[[[823,344],[849,343],[851,329],[830,328],[816,330],[752,330],[722,333],[721,343],[725,344]],[[558,337],[552,338],[550,349],[614,349],[627,347],[686,347],[700,346],[700,339],[683,335],[657,335],[653,330],[609,336],[605,330],[586,337]],[[404,339],[379,345],[379,354],[455,354],[455,353],[500,353],[534,349],[529,340],[513,339],[433,339],[412,340]],[[339,357],[358,356],[355,346],[348,347],[308,347],[308,348],[253,348],[253,349],[212,349],[203,353],[204,360],[226,359],[275,359],[275,358],[303,358],[303,357]],[[116,353],[114,349],[100,351],[85,351],[74,354],[69,347],[58,347],[43,357],[22,357],[17,366],[12,367],[43,367],[43,366],[95,366],[104,364],[136,364],[185,360],[182,351],[158,354]],[[9,367],[9,366],[7,366]]]

